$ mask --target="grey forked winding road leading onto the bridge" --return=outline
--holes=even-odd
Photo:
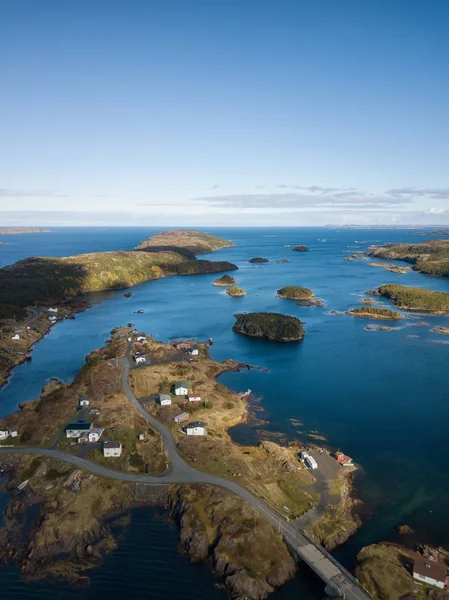
[[[10,454],[35,454],[47,456],[69,463],[74,467],[89,471],[100,477],[109,477],[120,481],[141,484],[179,484],[200,483],[225,488],[236,494],[253,507],[266,521],[268,521],[282,536],[292,550],[316,573],[316,575],[334,591],[334,595],[347,600],[372,600],[371,596],[362,588],[359,582],[344,569],[324,548],[307,532],[297,529],[286,521],[279,513],[271,508],[261,498],[255,496],[248,489],[224,477],[209,475],[190,466],[178,454],[176,442],[170,429],[151,416],[139,403],[129,385],[130,362],[129,355],[119,360],[123,366],[121,377],[122,390],[134,408],[158,431],[165,442],[167,453],[171,462],[171,470],[164,475],[140,475],[136,473],[122,473],[107,469],[89,460],[79,458],[67,452],[54,448],[0,448],[0,455]]]

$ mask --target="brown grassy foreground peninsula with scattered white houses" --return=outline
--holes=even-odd
[[[50,384],[0,422],[11,492],[0,552],[24,577],[86,581],[83,572],[117,543],[112,525],[136,504],[168,506],[192,560],[208,561],[231,596],[254,600],[291,578],[295,563],[272,521],[241,496],[256,504],[263,498],[261,513],[279,515],[283,528],[282,513],[294,518],[321,506],[307,523],[329,546],[354,532],[347,471],[331,456],[313,453],[332,465],[332,491],[321,498],[313,471],[299,460],[300,443],[232,441],[228,430],[245,420],[247,398],[216,378],[237,370],[234,361],[215,362],[194,341],[167,345],[129,328],[111,333],[72,384]],[[130,371],[131,356],[144,356],[143,366]],[[119,452],[111,454],[112,443]],[[27,526],[32,504],[39,517]]]

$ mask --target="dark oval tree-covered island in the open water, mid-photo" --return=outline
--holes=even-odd
[[[250,337],[276,342],[298,342],[305,335],[303,323],[289,315],[261,312],[234,316],[237,321],[232,329]]]

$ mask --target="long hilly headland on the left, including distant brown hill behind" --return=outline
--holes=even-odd
[[[31,257],[0,269],[0,386],[10,369],[29,358],[28,351],[50,326],[88,306],[75,300],[90,292],[121,290],[171,275],[233,271],[226,261],[197,260],[204,252],[232,245],[208,234],[177,230],[179,252],[161,247],[160,239],[174,241],[173,232],[149,238],[145,250],[97,252],[64,258]],[[182,247],[180,246],[182,244]],[[192,258],[193,257],[193,258]],[[48,314],[48,310],[52,312]],[[20,331],[19,331],[20,330]]]

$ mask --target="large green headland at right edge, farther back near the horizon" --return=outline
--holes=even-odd
[[[426,275],[449,277],[449,240],[430,240],[420,244],[386,244],[371,248],[368,256],[412,263]]]

